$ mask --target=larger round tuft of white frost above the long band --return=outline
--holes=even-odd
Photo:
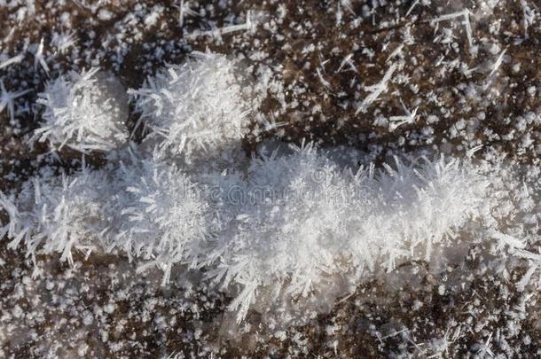
[[[162,69],[142,89],[129,90],[159,155],[182,153],[190,162],[199,152],[239,142],[247,133],[248,105],[235,72],[222,55],[196,53]]]

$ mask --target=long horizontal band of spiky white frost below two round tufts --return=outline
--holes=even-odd
[[[352,284],[363,273],[430,260],[433,246],[450,246],[459,231],[497,228],[487,199],[498,181],[469,160],[396,159],[354,172],[309,144],[254,159],[246,174],[190,177],[139,156],[107,172],[35,178],[17,198],[2,195],[12,246],[24,241],[28,254],[59,252],[68,261],[72,249],[120,250],[142,270],[162,269],[164,284],[176,263],[205,267],[236,297],[230,308],[242,320],[261,300],[326,295],[337,277]]]

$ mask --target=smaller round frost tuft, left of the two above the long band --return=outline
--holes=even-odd
[[[67,146],[80,152],[117,148],[128,139],[128,103],[122,91],[113,75],[98,68],[60,76],[39,94],[43,123],[30,143],[48,141],[54,149]]]

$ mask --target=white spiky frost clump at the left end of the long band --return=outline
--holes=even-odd
[[[103,171],[83,168],[74,176],[36,177],[12,198],[0,192],[0,207],[10,216],[2,237],[7,233],[12,248],[23,242],[27,255],[59,253],[73,263],[72,250],[97,248],[114,222],[106,199],[115,188],[106,178]]]

